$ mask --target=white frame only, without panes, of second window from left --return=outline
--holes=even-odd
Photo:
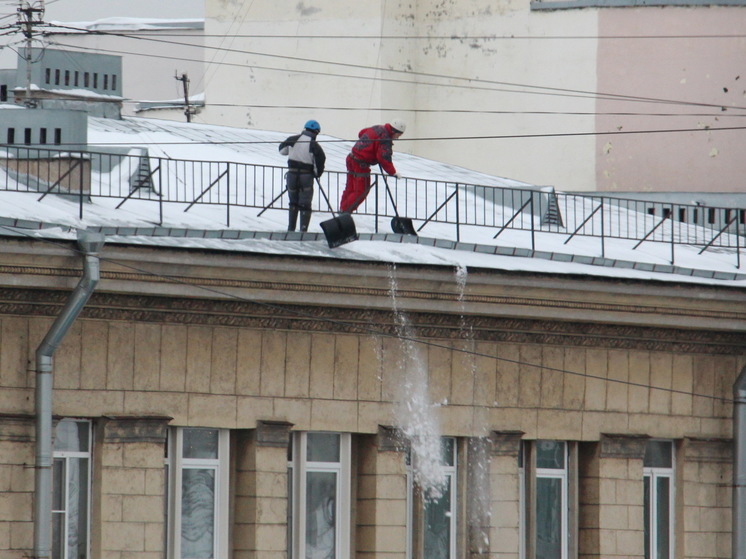
[[[184,458],[184,432],[186,430],[215,430],[218,432],[217,458]],[[181,553],[181,502],[182,481],[185,469],[213,470],[215,493],[213,496],[213,558],[229,557],[230,525],[230,431],[212,427],[172,427],[168,432],[165,470],[166,493],[166,556],[169,559],[190,559]]]

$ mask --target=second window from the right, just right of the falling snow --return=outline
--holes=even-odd
[[[570,557],[570,532],[575,522],[571,495],[571,452],[563,441],[526,442],[519,457],[523,481],[521,511],[522,557],[531,559],[567,559]],[[572,528],[571,528],[572,527]]]

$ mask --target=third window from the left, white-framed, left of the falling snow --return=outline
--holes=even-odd
[[[350,555],[350,435],[295,433],[288,449],[288,557]]]

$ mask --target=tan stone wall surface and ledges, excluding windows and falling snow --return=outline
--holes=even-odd
[[[31,554],[34,351],[79,272],[62,249],[21,247],[0,256],[0,559]],[[122,271],[136,261],[148,272]],[[168,429],[209,427],[231,432],[223,557],[286,557],[287,445],[332,431],[352,433],[349,556],[405,559],[405,348],[391,271],[363,267],[110,249],[54,363],[55,418],[94,428],[91,557],[164,556]],[[459,303],[450,270],[396,273],[440,429],[458,441],[459,556],[520,557],[522,443],[548,439],[574,449],[573,556],[643,557],[656,438],[676,448],[676,556],[729,557],[740,292],[476,271]]]

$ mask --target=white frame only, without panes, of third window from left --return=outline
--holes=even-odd
[[[308,460],[308,435],[330,434],[339,436],[339,462]],[[351,454],[350,433],[332,431],[298,431],[290,437],[288,460],[288,559],[306,556],[306,498],[308,473],[335,473],[335,559],[348,557],[351,532]]]

